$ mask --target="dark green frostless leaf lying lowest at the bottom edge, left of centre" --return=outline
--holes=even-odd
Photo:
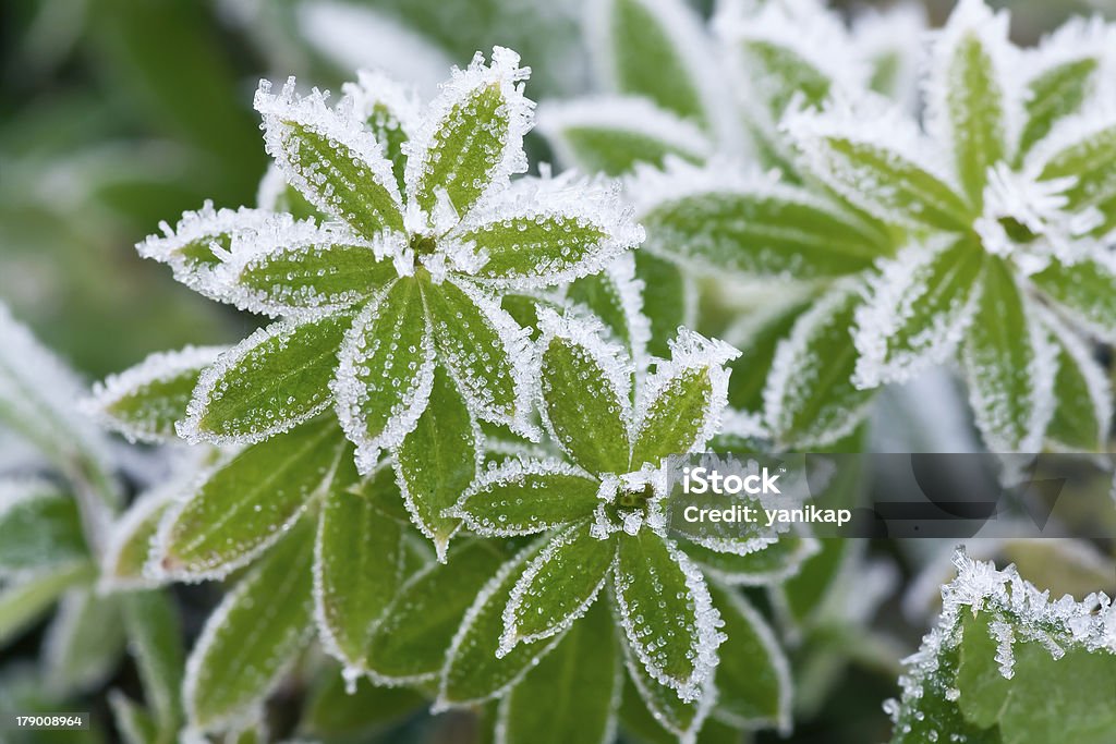
[[[355,692],[346,690],[345,685],[335,667],[319,675],[307,694],[299,724],[302,734],[365,741],[414,715],[426,702],[406,687],[377,687],[363,677],[356,680]]]

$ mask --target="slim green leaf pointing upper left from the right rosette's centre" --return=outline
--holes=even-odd
[[[970,228],[972,207],[929,166],[863,136],[818,128],[793,126],[791,135],[810,172],[853,205],[887,224],[915,230]]]

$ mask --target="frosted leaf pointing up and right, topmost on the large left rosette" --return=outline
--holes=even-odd
[[[445,193],[463,215],[485,191],[527,170],[522,142],[535,104],[521,81],[529,75],[503,47],[492,49],[491,65],[478,52],[468,68],[453,69],[408,144],[407,193],[423,211],[432,213]]]

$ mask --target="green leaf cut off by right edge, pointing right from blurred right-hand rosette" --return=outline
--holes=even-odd
[[[1030,280],[1090,332],[1116,341],[1116,269],[1107,259],[1072,264],[1051,260]]]

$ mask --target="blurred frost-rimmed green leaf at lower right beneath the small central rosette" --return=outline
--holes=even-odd
[[[714,716],[737,726],[790,727],[790,663],[775,632],[737,591],[710,588],[728,639],[716,665]]]

